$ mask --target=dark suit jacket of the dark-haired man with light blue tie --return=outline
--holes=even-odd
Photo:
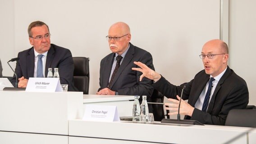
[[[15,72],[18,78],[24,76],[26,79],[29,77],[34,77],[34,67],[35,67],[35,54],[34,47],[24,50],[18,53],[19,60],[16,63]],[[48,68],[59,68],[59,80],[61,84],[68,84],[69,91],[78,91],[74,86],[73,72],[74,63],[72,54],[69,49],[59,47],[57,45],[51,44],[46,57],[46,71],[45,76],[47,76]],[[15,85],[16,76],[14,75],[11,80],[12,84]]]

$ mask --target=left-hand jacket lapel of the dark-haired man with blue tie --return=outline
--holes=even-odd
[[[32,48],[27,55],[27,78],[34,77],[35,69],[35,53],[34,48]]]

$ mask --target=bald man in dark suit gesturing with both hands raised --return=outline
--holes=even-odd
[[[155,83],[152,85],[171,103],[165,103],[169,115],[178,113],[178,95],[183,91],[180,114],[184,119],[200,121],[203,124],[224,125],[231,109],[244,109],[249,101],[246,82],[228,66],[229,50],[222,40],[210,40],[202,48],[200,55],[205,69],[198,72],[194,79],[180,86],[172,85],[159,73],[151,70],[145,64],[134,62],[141,68],[133,70],[143,72],[140,80],[145,76]]]

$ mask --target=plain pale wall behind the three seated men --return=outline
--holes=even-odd
[[[3,74],[13,75],[6,62],[10,58],[17,57],[19,51],[31,47],[27,27],[32,21],[41,20],[50,27],[51,43],[69,48],[73,56],[91,58],[89,93],[95,94],[99,87],[100,61],[111,52],[105,36],[111,24],[123,21],[131,28],[131,42],[152,54],[156,71],[170,82],[179,85],[190,81],[203,69],[198,56],[201,54],[202,45],[207,40],[220,38],[220,2],[220,0],[0,0],[0,58],[4,68]],[[241,27],[233,26],[233,17],[234,21],[239,21],[237,18],[240,17],[232,14],[236,13],[236,9],[247,10],[247,7],[240,7],[239,3],[243,2],[251,6],[255,5],[253,0],[241,2],[232,0],[229,8],[231,38],[232,27]],[[247,15],[252,17],[253,12],[255,13],[255,10]],[[250,23],[252,19],[246,20],[244,25]],[[255,22],[254,19],[253,23]],[[250,30],[254,27],[251,24],[247,28]],[[239,34],[238,31],[235,35]],[[253,36],[251,35],[251,38]],[[243,34],[242,37],[247,40],[248,36]],[[248,59],[251,58],[251,61],[254,59],[242,55],[239,51],[241,46],[232,43],[233,41],[237,40],[229,41],[230,66],[238,75],[246,79],[250,94],[252,92],[256,94],[256,91],[251,90],[253,79],[255,80],[253,70],[241,71],[240,69],[245,70],[249,67],[245,64],[237,64],[238,60],[247,63]],[[241,44],[243,45],[242,41]],[[250,46],[251,43],[247,45]],[[237,57],[242,58],[234,59]],[[14,67],[15,63],[12,63],[12,66]],[[251,77],[247,78],[249,75]],[[250,100],[252,100],[251,96]],[[256,99],[250,103],[256,104]]]

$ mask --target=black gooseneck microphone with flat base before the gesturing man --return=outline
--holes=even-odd
[[[180,120],[180,114],[179,114],[179,111],[180,111],[180,103],[181,103],[181,100],[182,100],[183,90],[184,90],[185,88],[186,88],[186,85],[184,85],[184,87],[183,87],[183,89],[182,89],[182,91],[181,91],[180,100],[179,100],[179,103],[178,103],[178,115],[177,115],[177,120],[164,118],[164,119],[162,119],[161,123],[174,123],[174,124],[202,125],[202,126],[204,126],[201,122],[199,122],[199,121],[197,121],[197,120]]]

